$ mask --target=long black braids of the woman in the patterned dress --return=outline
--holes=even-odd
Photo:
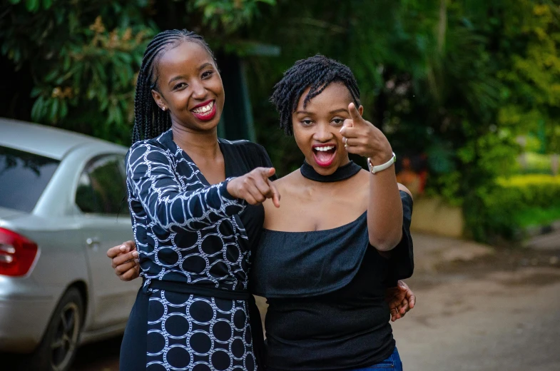
[[[134,128],[132,141],[143,141],[156,138],[171,127],[168,111],[161,110],[152,96],[152,89],[158,90],[158,62],[161,56],[178,44],[190,41],[203,46],[215,62],[212,50],[203,37],[193,31],[167,30],[157,34],[146,47],[134,96]]]

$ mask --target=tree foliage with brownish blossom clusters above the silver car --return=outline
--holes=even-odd
[[[10,0],[0,6],[0,51],[15,71],[31,75],[33,104],[24,119],[128,144],[136,73],[159,29],[154,15],[164,29],[178,13],[181,27],[189,19],[190,29],[219,36],[247,24],[259,3],[275,1]]]

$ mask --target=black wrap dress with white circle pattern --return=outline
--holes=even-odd
[[[268,155],[248,141],[219,144],[229,178],[215,185],[173,142],[171,131],[135,143],[126,156],[128,205],[144,282],[123,337],[121,370],[257,368],[250,300],[188,291],[246,293],[250,243],[263,223],[262,205],[245,205],[226,186],[231,177],[270,166]],[[156,283],[188,292],[158,290]]]

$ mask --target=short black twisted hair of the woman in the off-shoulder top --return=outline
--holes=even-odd
[[[280,128],[286,135],[291,136],[292,113],[297,109],[297,102],[305,89],[310,87],[305,96],[303,107],[310,99],[318,96],[330,83],[344,83],[350,91],[356,107],[360,106],[360,88],[358,88],[354,73],[344,64],[317,54],[307,59],[300,59],[284,73],[282,80],[274,86],[270,102],[280,113]]]

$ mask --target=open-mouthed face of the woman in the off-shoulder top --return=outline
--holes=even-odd
[[[330,83],[324,91],[303,102],[310,88],[305,89],[292,113],[295,142],[305,160],[323,176],[334,173],[350,159],[342,142],[340,129],[350,118],[348,105],[353,102],[350,91],[343,83]],[[363,107],[358,108],[362,114]]]

